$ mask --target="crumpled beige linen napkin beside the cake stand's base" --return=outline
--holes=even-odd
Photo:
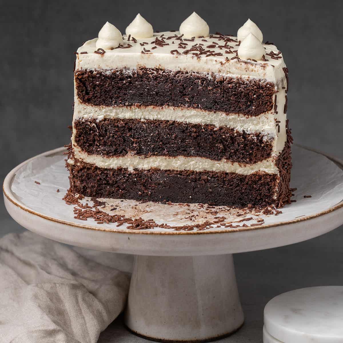
[[[113,268],[121,262],[125,271]],[[97,342],[125,306],[130,264],[125,255],[87,254],[31,232],[4,236],[0,342]]]

